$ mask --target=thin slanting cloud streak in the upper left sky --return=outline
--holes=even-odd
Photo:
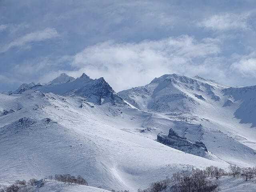
[[[13,47],[19,47],[24,46],[30,42],[40,42],[51,38],[56,38],[58,36],[58,32],[55,29],[52,28],[46,28],[42,31],[36,31],[32,33],[28,33],[20,38],[17,38],[16,40],[13,40],[9,44],[6,44],[3,46],[2,49],[0,49],[0,52],[7,52],[10,50],[10,48]]]

